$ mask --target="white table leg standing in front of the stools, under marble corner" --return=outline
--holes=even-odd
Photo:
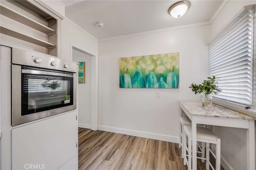
[[[192,170],[197,169],[196,147],[196,118],[192,116]]]

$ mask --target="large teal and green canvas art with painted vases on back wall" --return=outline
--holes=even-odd
[[[179,88],[180,54],[120,58],[120,88]]]

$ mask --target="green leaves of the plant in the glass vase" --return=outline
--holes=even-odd
[[[208,77],[208,80],[204,80],[202,84],[194,84],[193,82],[190,84],[189,88],[191,88],[195,94],[203,93],[205,96],[211,93],[218,94],[218,92],[221,92],[221,89],[218,88],[217,80],[215,76]]]

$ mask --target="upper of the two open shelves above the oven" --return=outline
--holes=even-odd
[[[53,34],[55,31],[52,28],[49,28],[35,20],[32,20],[31,18],[28,18],[27,16],[20,14],[19,12],[16,12],[12,10],[11,8],[8,8],[7,6],[4,6],[1,4],[0,6],[0,12],[2,15],[11,18],[13,20],[16,20],[22,24],[25,24],[31,28],[34,28],[40,32],[43,32],[45,34]]]

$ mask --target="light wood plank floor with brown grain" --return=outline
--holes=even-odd
[[[84,128],[78,133],[79,170],[187,169],[178,144]],[[198,170],[205,170],[200,160]]]

